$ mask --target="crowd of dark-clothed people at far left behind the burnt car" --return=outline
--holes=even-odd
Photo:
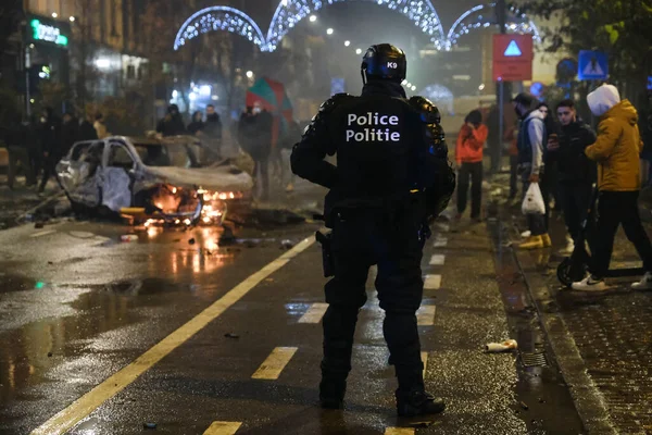
[[[73,144],[110,135],[101,113],[89,114],[82,122],[72,112],[59,117],[52,108],[45,108],[40,116],[33,115],[28,122],[23,122],[22,115],[16,114],[15,122],[2,128],[0,137],[9,151],[9,188],[14,188],[16,175],[22,172],[26,187],[36,186],[42,194],[54,175],[57,163]]]

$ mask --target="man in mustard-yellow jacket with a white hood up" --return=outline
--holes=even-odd
[[[643,148],[638,129],[638,113],[628,100],[620,101],[618,89],[602,85],[589,94],[587,101],[591,112],[600,117],[598,139],[587,147],[586,154],[598,162],[598,224],[595,231],[590,276],[573,288],[585,291],[602,291],[607,287],[604,275],[614,247],[618,226],[634,244],[643,260],[645,275],[631,285],[635,289],[652,289],[652,245],[643,229],[638,211],[641,188],[640,152]]]

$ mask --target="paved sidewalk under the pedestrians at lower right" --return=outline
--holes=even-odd
[[[640,207],[650,222],[650,203],[641,201]],[[503,206],[501,215],[510,237],[517,240],[525,229],[519,207]],[[652,233],[649,223],[644,226]],[[565,288],[556,278],[563,259],[556,252],[565,244],[560,212],[551,215],[550,234],[552,248],[514,253],[587,428],[651,434],[652,293],[632,291],[629,285],[637,277],[610,279],[612,289],[601,294]],[[612,259],[612,266],[618,265],[640,265],[622,228]]]

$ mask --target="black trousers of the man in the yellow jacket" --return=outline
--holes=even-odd
[[[614,238],[623,224],[627,239],[631,241],[643,260],[643,268],[652,272],[652,245],[641,224],[638,210],[639,191],[601,191],[598,197],[598,223],[594,252],[590,272],[604,277],[614,249]]]

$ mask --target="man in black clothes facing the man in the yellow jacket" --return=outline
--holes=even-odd
[[[585,154],[585,149],[595,142],[595,133],[578,120],[572,100],[561,101],[556,107],[556,115],[561,130],[549,137],[548,150],[554,156],[557,166],[557,191],[570,236],[563,252],[569,254],[587,216],[592,185],[595,183],[595,163]]]

